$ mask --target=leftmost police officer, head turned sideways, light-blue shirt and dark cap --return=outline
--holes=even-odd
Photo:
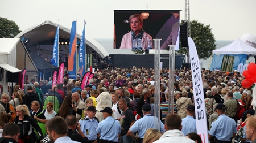
[[[98,120],[94,118],[96,114],[96,107],[90,106],[85,111],[88,111],[87,116],[79,120],[81,124],[81,131],[84,135],[88,138],[89,143],[96,143],[97,142],[97,127],[98,127]]]

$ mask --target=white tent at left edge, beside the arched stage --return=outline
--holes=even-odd
[[[35,77],[38,71],[27,53],[20,38],[0,38],[0,85],[3,86],[2,93],[8,93],[7,75],[22,72],[26,68],[26,75]],[[11,84],[9,84],[10,86]],[[10,92],[11,93],[11,92]]]

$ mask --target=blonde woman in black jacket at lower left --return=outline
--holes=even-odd
[[[26,105],[19,105],[16,107],[16,118],[14,119],[14,123],[17,124],[20,129],[19,142],[32,143],[38,140],[34,137],[34,133],[31,132],[32,127],[38,132],[39,140],[43,139],[42,130],[30,116],[30,112]]]

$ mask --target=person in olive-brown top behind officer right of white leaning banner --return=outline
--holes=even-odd
[[[226,116],[234,119],[234,121],[237,123],[237,106],[238,102],[236,99],[233,99],[233,92],[228,92],[227,94],[228,100],[224,102],[224,105],[226,106]]]

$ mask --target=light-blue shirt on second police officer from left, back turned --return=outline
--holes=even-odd
[[[110,127],[112,128],[110,129]],[[121,132],[121,125],[118,120],[108,116],[105,120],[102,120],[100,123],[98,123],[98,128],[96,131],[97,133],[101,134],[100,139],[118,142],[118,134]]]

